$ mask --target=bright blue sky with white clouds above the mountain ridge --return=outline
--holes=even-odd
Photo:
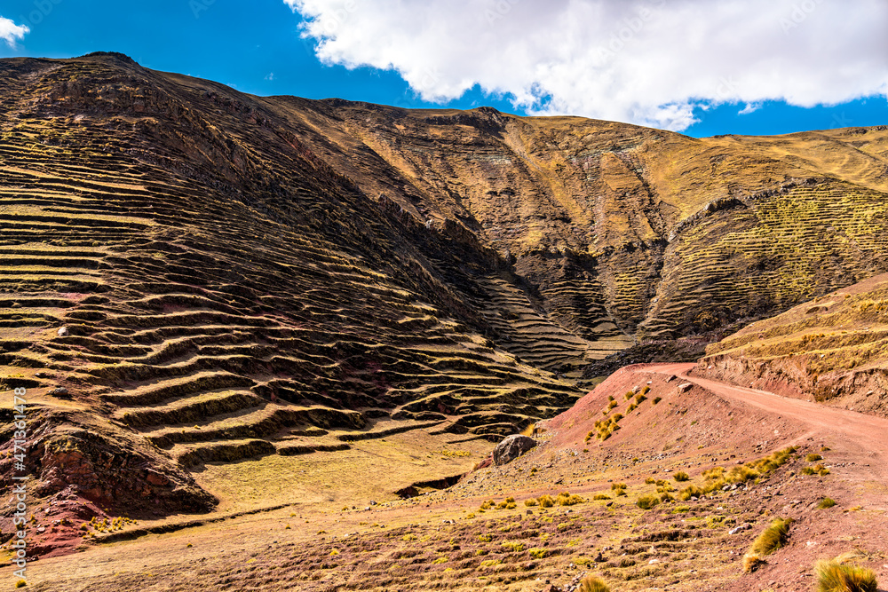
[[[361,0],[361,8],[353,4],[356,1],[0,0],[0,16],[29,29],[12,40],[14,45],[0,40],[0,57],[68,58],[90,51],[121,51],[145,67],[207,78],[258,95],[340,97],[401,107],[490,105],[518,114],[599,116],[698,137],[888,123],[884,96],[888,77],[880,63],[888,51],[876,59],[857,59],[847,48],[826,48],[828,54],[817,54],[820,45],[797,53],[796,48],[809,39],[822,44],[814,41],[822,32],[818,20],[824,25],[834,20],[821,4],[827,0],[786,4],[783,12],[774,12],[765,21],[764,28],[760,16],[748,25],[733,22],[738,45],[758,43],[758,35],[761,43],[768,43],[767,35],[773,36],[773,55],[750,56],[753,63],[719,58],[718,51],[731,51],[717,41],[724,32],[719,35],[718,28],[709,25],[724,20],[721,14],[704,14],[695,25],[702,47],[680,47],[678,42],[687,36],[678,31],[677,23],[687,21],[680,13],[681,4],[696,0],[675,0],[678,5],[670,4],[668,10],[662,0],[648,0],[647,6],[634,6],[633,12],[626,12],[625,3],[583,0],[588,15],[557,14],[560,0],[548,4],[456,0],[466,3],[463,13],[478,7],[478,18],[469,25],[480,22],[484,28],[479,31],[469,31],[471,27],[456,18],[448,20],[445,13],[425,10],[429,3],[398,13],[417,0]],[[805,6],[812,8],[805,12]],[[860,52],[883,49],[884,35],[867,38],[872,34],[868,21],[888,28],[888,22],[880,22],[884,13],[877,4],[868,6],[866,18],[844,26]],[[367,12],[362,12],[364,8]],[[575,4],[571,10],[576,11]],[[582,35],[571,36],[582,37],[575,46],[566,42],[552,49],[562,36],[569,36],[565,23],[583,24],[585,18],[604,24],[580,29]],[[424,32],[424,27],[433,31]],[[547,27],[553,28],[555,42],[547,42],[543,49],[522,42],[524,37],[542,36]],[[305,38],[305,30],[313,36]],[[0,28],[0,37],[2,32]],[[463,32],[465,38],[460,37]],[[434,35],[443,37],[436,41]],[[511,41],[506,43],[503,37]],[[498,53],[503,44],[509,44],[508,51]],[[591,45],[603,53],[586,51]],[[769,70],[773,56],[783,62]],[[694,57],[700,63],[689,64]],[[755,63],[755,59],[766,61]],[[527,77],[531,71],[536,78]],[[766,75],[758,76],[759,71]],[[637,72],[634,77],[633,72]],[[786,79],[793,76],[788,83]],[[662,87],[668,92],[661,93]]]

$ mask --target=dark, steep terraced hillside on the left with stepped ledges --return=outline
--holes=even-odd
[[[3,67],[0,363],[39,403],[41,493],[206,509],[185,470],[207,462],[486,442],[578,396],[481,334],[470,280],[496,281],[495,258],[412,244],[273,114],[219,115],[213,87],[119,57]]]

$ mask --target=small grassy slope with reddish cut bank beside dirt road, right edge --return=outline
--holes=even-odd
[[[704,375],[888,417],[888,275],[753,323],[707,354]]]

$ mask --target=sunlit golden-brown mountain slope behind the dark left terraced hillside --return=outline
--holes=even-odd
[[[707,333],[888,271],[885,127],[694,139],[486,108],[278,104],[365,193],[495,249],[593,359],[627,336]],[[537,341],[509,337],[497,343],[518,353]]]

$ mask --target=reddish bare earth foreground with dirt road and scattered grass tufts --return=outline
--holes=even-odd
[[[571,589],[595,573],[614,591],[800,591],[813,589],[817,559],[846,553],[874,569],[884,588],[888,421],[696,378],[692,367],[622,369],[543,422],[540,446],[448,490],[355,509],[293,499],[175,533],[91,543],[83,553],[31,564],[28,589],[537,591]],[[693,386],[678,387],[685,383]],[[630,412],[622,395],[640,385],[650,387],[648,399]],[[613,413],[625,414],[621,429],[604,442],[585,441],[608,396],[618,401]],[[650,510],[635,504],[654,492],[648,477],[680,490],[702,485],[703,470],[790,445],[799,446],[792,460],[745,487]],[[801,474],[814,453],[829,474]],[[676,470],[690,481],[676,483]],[[614,494],[614,481],[627,485],[627,495]],[[547,509],[523,503],[564,490],[585,501]],[[609,499],[593,501],[595,493]],[[826,496],[837,505],[819,509]],[[503,508],[480,511],[490,499]],[[744,574],[742,555],[776,516],[796,520],[789,545]],[[745,523],[751,528],[728,533]]]

